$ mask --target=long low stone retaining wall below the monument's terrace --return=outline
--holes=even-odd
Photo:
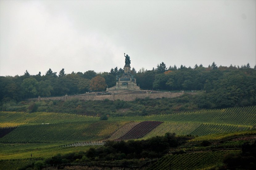
[[[142,93],[142,94],[112,94],[112,95],[106,95],[106,96],[62,96],[62,97],[41,97],[38,99],[29,99],[29,100],[68,100],[72,98],[78,98],[80,100],[85,101],[95,101],[95,100],[104,100],[109,99],[111,101],[114,100],[122,100],[122,101],[134,101],[136,98],[138,99],[144,99],[146,97],[149,97],[150,99],[156,99],[156,98],[171,98],[171,97],[179,97],[184,93]]]

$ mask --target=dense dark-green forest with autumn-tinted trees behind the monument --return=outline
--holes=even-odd
[[[22,101],[27,98],[82,94],[88,91],[103,91],[116,83],[116,76],[121,76],[123,69],[112,68],[110,72],[66,74],[64,69],[59,74],[49,69],[44,75],[0,77],[1,104],[9,101]],[[169,68],[162,62],[152,70],[132,68],[131,73],[137,79],[141,89],[166,91],[203,90],[193,101],[198,101],[199,108],[225,108],[256,104],[256,66],[247,65],[217,66],[215,62],[208,67],[195,65],[193,68],[175,65]]]

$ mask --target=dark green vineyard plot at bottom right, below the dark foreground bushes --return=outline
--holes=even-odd
[[[192,170],[212,167],[223,162],[224,156],[230,152],[240,151],[216,151],[216,152],[194,152],[178,155],[166,155],[155,162],[149,170]]]

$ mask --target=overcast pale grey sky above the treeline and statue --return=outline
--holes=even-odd
[[[256,62],[255,0],[0,0],[0,75]]]

